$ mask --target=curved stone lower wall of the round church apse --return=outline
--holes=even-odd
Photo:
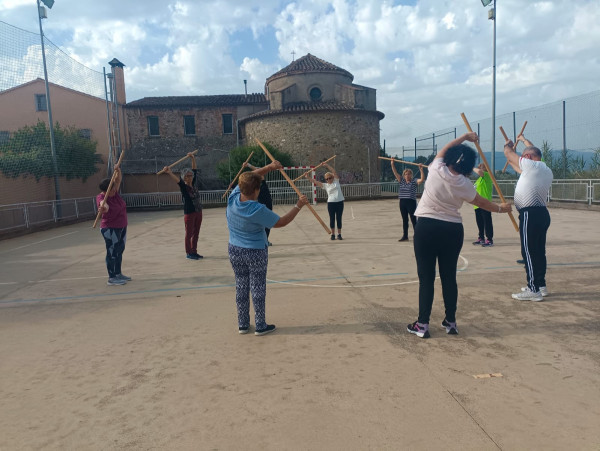
[[[255,138],[289,153],[297,165],[317,165],[337,154],[342,183],[379,181],[379,117],[376,112],[318,111],[259,117],[244,124],[248,145]],[[369,158],[370,156],[370,158]],[[322,172],[319,175],[322,176]]]

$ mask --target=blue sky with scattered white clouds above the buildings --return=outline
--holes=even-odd
[[[500,0],[496,114],[600,89],[599,0]],[[35,0],[0,20],[38,32]],[[381,140],[492,115],[493,21],[480,0],[56,0],[48,39],[102,71],[125,64],[127,100],[264,92],[311,53],[377,90]],[[294,54],[292,53],[294,52]]]

